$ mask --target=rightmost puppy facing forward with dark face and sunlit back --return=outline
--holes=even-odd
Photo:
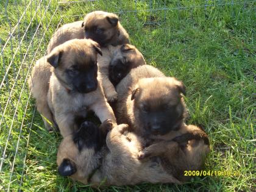
[[[116,92],[118,124],[129,124],[141,137],[163,135],[182,123],[185,107],[180,93],[185,93],[185,87],[153,66],[132,69]]]

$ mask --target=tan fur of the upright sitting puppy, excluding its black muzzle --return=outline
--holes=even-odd
[[[49,91],[47,94],[45,94],[48,89],[48,87],[45,86],[47,80],[37,79],[38,76],[32,76],[32,78],[37,79],[35,87],[43,90],[43,87],[41,87],[41,84],[43,84],[45,89],[43,94],[35,98],[38,100],[40,97],[43,98],[47,96],[47,103],[63,137],[77,129],[74,123],[75,116],[85,117],[88,110],[93,110],[102,122],[105,119],[113,119],[115,122],[113,110],[104,97],[102,85],[99,80],[97,89],[90,93],[82,94],[76,91],[69,93],[69,91],[67,91],[67,89],[70,90],[71,87],[66,82],[65,70],[74,65],[74,62],[77,61],[82,63],[79,65],[85,66],[90,65],[89,59],[94,59],[96,62],[97,52],[96,49],[93,48],[94,44],[96,44],[96,42],[91,40],[70,40],[52,50],[51,54],[46,58],[49,59],[52,55],[57,55],[62,52],[62,65],[57,68],[51,67],[52,75],[49,80]],[[40,71],[38,71],[38,73],[40,73]],[[41,102],[41,105],[47,105],[45,99],[43,101],[38,100],[38,102]]]

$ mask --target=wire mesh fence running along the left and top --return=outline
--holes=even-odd
[[[129,26],[130,20],[143,26],[168,27],[165,26],[167,12],[179,14],[182,10],[207,10],[234,4],[246,7],[255,4],[255,1],[194,1],[193,6],[189,1],[169,0],[1,1],[0,190],[26,190],[24,179],[30,179],[27,169],[32,166],[30,159],[33,158],[30,137],[41,122],[34,101],[30,99],[27,79],[35,61],[46,54],[51,35],[62,24],[82,20],[86,13],[93,10],[105,10],[118,13],[129,32],[129,27],[132,27]]]

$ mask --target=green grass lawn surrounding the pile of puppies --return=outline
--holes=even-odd
[[[15,26],[28,2],[9,1],[7,14],[5,1],[0,2],[1,49],[10,34],[9,23]],[[12,41],[7,43],[0,55],[2,82],[12,55],[29,26],[0,89],[0,162],[3,162],[0,191],[9,187],[10,191],[93,191],[57,174],[55,161],[61,137],[58,133],[48,133],[40,115],[34,113],[27,76],[30,65],[33,66],[35,60],[44,55],[59,23],[81,20],[82,16],[74,15],[84,15],[90,10],[119,12],[135,9],[139,11],[137,14],[122,13],[121,23],[129,32],[132,44],[140,49],[149,65],[185,83],[190,114],[188,123],[204,127],[210,136],[212,151],[207,157],[205,170],[240,171],[241,176],[195,177],[180,186],[144,183],[134,187],[109,187],[102,191],[256,190],[255,2],[205,8],[195,7],[204,5],[204,1],[199,0],[152,1],[151,9],[163,7],[164,2],[168,8],[190,7],[156,12],[143,11],[150,9],[149,1],[137,1],[136,8],[135,1],[129,0],[102,0],[93,4],[64,4],[59,7],[56,0],[52,0],[51,8],[46,9],[48,2],[42,2],[34,18],[39,1],[32,2]],[[207,2],[213,4],[213,1]],[[2,160],[5,144],[5,160]]]

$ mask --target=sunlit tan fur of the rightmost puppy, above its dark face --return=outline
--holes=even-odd
[[[130,73],[124,77],[123,80],[116,87],[118,93],[118,101],[116,104],[116,118],[119,123],[127,123],[132,130],[141,135],[141,123],[138,108],[140,106],[135,105],[132,98],[132,91],[138,89],[138,91],[145,89],[146,93],[141,98],[141,104],[143,100],[148,100],[151,103],[151,107],[159,105],[163,101],[168,101],[169,104],[177,104],[179,100],[179,93],[171,95],[169,89],[175,89],[175,85],[179,85],[180,82],[172,77],[165,77],[165,75],[153,66],[139,66],[138,68],[132,69]],[[185,106],[180,102],[180,108]]]

